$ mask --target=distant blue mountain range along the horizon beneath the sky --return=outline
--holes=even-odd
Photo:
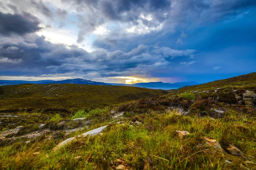
[[[20,84],[81,84],[81,85],[117,85],[117,86],[132,86],[140,88],[153,88],[153,89],[177,89],[184,86],[198,85],[198,82],[143,82],[136,84],[122,84],[122,83],[105,83],[105,82],[94,82],[85,79],[66,79],[61,81],[53,80],[40,80],[40,81],[24,81],[24,80],[0,80],[0,86],[3,85],[20,85]]]

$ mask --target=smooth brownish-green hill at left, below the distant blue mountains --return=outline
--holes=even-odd
[[[11,85],[0,87],[0,110],[28,108],[101,108],[167,91],[103,85]]]

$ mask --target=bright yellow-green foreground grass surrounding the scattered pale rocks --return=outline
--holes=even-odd
[[[109,125],[103,136],[79,139],[57,153],[52,152],[52,148],[68,137],[41,137],[32,139],[29,144],[23,143],[27,139],[16,139],[11,145],[1,143],[0,165],[4,169],[110,169],[119,165],[116,159],[122,159],[127,162],[125,166],[132,169],[143,169],[146,165],[149,169],[177,170],[241,169],[241,164],[248,168],[255,166],[250,163],[255,163],[256,157],[256,141],[253,139],[256,135],[255,117],[236,111],[229,111],[223,119],[214,121],[209,117],[175,113],[137,116],[143,125],[130,127],[133,118],[128,117],[124,125]],[[88,130],[107,122],[93,125]],[[191,134],[180,139],[176,130],[187,130]],[[232,156],[225,150],[221,152],[204,145],[199,147],[204,136],[217,139],[221,145],[233,144],[247,159]],[[40,154],[33,155],[35,152]],[[81,158],[75,159],[76,156]],[[233,163],[225,163],[226,160]]]

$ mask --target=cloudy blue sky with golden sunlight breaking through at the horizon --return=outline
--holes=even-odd
[[[0,1],[0,79],[186,82],[256,71],[256,0]]]

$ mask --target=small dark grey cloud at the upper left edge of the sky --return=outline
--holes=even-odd
[[[9,36],[10,34],[24,35],[39,31],[39,21],[28,13],[3,14],[0,12],[0,34]]]

